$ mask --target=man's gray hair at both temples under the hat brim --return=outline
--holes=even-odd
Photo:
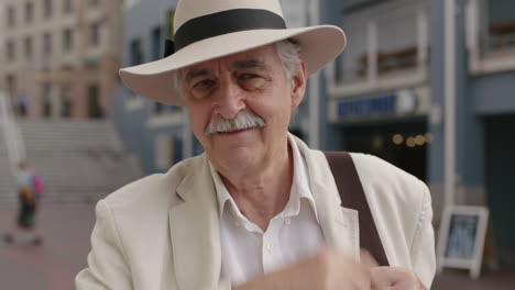
[[[284,40],[275,43],[275,49],[283,65],[286,79],[292,80],[300,65],[300,45],[294,40]],[[172,81],[176,91],[180,94],[180,98],[183,98],[184,91],[180,70],[176,70],[172,74]]]

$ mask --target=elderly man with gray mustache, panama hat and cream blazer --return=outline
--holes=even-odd
[[[172,55],[121,77],[143,97],[184,105],[206,153],[98,203],[77,288],[429,288],[427,187],[361,154],[349,155],[354,171],[333,175],[287,132],[307,76],[343,49],[343,32],[288,30],[278,0],[182,0],[174,26]],[[361,186],[337,186],[346,180]],[[340,205],[354,191],[368,210]],[[361,233],[375,227],[382,255],[371,257],[360,245],[374,238]]]

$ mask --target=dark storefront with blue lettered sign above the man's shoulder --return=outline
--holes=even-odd
[[[425,87],[331,101],[339,146],[381,157],[427,179],[429,90]]]

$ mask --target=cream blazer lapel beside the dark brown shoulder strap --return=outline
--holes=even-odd
[[[358,212],[340,207],[340,196],[326,156],[321,152],[309,149],[299,140],[296,142],[306,158],[311,192],[326,244],[359,259]]]

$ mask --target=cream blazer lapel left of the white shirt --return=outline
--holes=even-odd
[[[221,249],[216,189],[202,156],[177,193],[185,201],[169,210],[169,230],[178,289],[210,289],[220,280]]]

